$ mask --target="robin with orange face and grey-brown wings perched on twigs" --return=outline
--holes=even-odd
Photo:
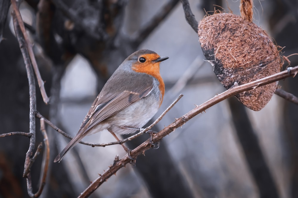
[[[162,104],[164,81],[159,63],[168,58],[151,50],[139,50],[128,56],[105,83],[76,136],[54,162],[60,162],[86,135],[107,129],[119,141],[116,134],[140,130]],[[130,150],[122,146],[130,157]]]

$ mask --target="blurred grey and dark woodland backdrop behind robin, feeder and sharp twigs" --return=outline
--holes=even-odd
[[[189,2],[198,21],[214,9],[231,9],[240,15],[240,1]],[[14,35],[9,1],[1,0],[0,5],[0,35],[4,38],[0,43],[1,133],[28,132],[26,69]],[[20,10],[51,96],[50,104],[45,105],[37,87],[37,110],[72,136],[108,77],[138,49],[170,57],[161,63],[166,93],[154,118],[180,93],[184,95],[155,131],[225,91],[205,61],[198,35],[185,20],[180,1],[26,0]],[[284,56],[298,52],[297,10],[297,0],[254,1],[254,23],[277,45],[285,46]],[[297,56],[289,59],[292,66],[298,64]],[[279,85],[298,96],[297,83],[296,77]],[[37,147],[43,137],[36,121]],[[297,121],[297,105],[277,95],[258,112],[233,97],[170,133],[159,149],[139,156],[136,167],[126,165],[91,197],[298,197]],[[108,169],[116,155],[121,158],[126,154],[120,145],[93,148],[79,144],[61,163],[53,163],[69,139],[50,127],[47,133],[50,164],[41,197],[77,197]],[[127,145],[133,149],[148,137],[144,134]],[[115,141],[109,133],[84,140]],[[27,137],[0,138],[0,198],[29,197],[22,177],[28,147]],[[41,159],[39,156],[31,169],[35,191]]]

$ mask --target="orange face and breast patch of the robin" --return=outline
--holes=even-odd
[[[164,81],[159,73],[159,62],[155,63],[154,60],[159,58],[158,54],[143,54],[138,57],[138,61],[132,65],[135,72],[146,73],[155,77],[159,82],[159,90],[162,94],[160,104],[164,97]],[[141,58],[141,59],[140,59]],[[144,59],[145,58],[145,61]],[[144,61],[143,63],[141,61]],[[152,62],[153,61],[153,62]]]

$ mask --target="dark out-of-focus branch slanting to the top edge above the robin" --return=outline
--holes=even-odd
[[[148,23],[134,33],[131,43],[135,46],[140,45],[140,43],[142,43],[159,25],[159,23],[167,17],[178,2],[179,0],[169,0],[162,8],[159,9],[158,12],[156,12],[156,15],[154,15]]]

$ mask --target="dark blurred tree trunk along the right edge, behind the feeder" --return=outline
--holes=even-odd
[[[272,36],[278,45],[284,47],[284,56],[298,52],[298,2],[296,0],[272,1],[272,15],[270,16],[270,28]],[[298,65],[298,58],[291,56],[291,66]],[[285,65],[288,65],[285,62]],[[298,96],[298,79],[289,78],[282,82],[286,91]],[[298,197],[298,105],[291,102],[284,102],[284,135],[287,142],[285,146],[288,149],[290,162],[290,180],[291,186],[289,191],[291,197]]]

